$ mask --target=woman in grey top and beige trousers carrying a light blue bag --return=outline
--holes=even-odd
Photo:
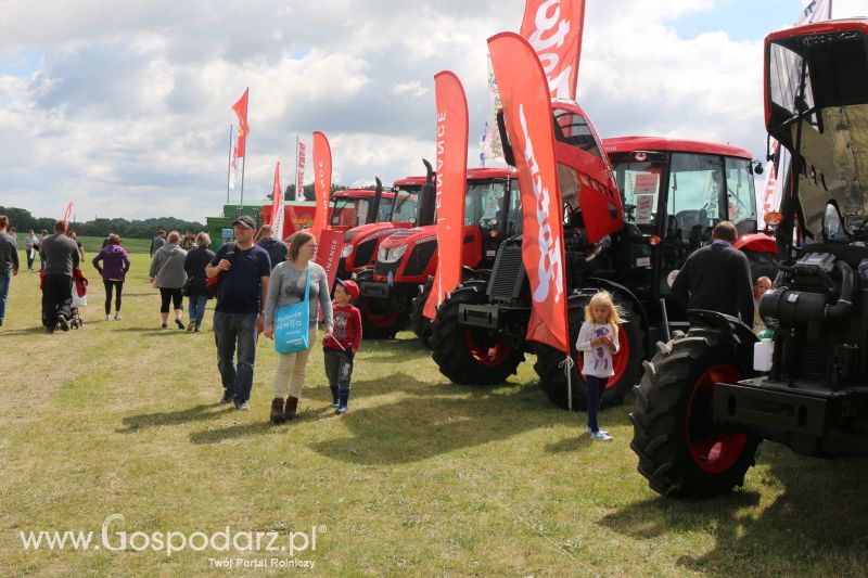
[[[332,301],[329,296],[329,281],[326,270],[312,262],[317,254],[317,240],[310,233],[296,233],[290,245],[286,260],[271,271],[268,298],[265,303],[265,336],[275,338],[275,311],[278,308],[303,301],[307,269],[310,268],[310,321],[308,348],[295,354],[278,354],[278,368],[275,371],[275,398],[271,400],[271,423],[279,424],[295,418],[302,386],[305,383],[305,367],[314,342],[317,341],[317,317],[322,307],[322,321],[326,336],[332,333]],[[286,397],[289,396],[289,397]],[[283,398],[286,397],[284,407]]]

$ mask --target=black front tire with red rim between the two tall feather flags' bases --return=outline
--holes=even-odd
[[[524,352],[499,341],[494,331],[458,322],[459,306],[488,303],[485,285],[484,281],[459,285],[443,301],[431,324],[432,357],[441,373],[454,383],[503,383],[524,361]]]

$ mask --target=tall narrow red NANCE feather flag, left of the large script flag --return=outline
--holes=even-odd
[[[468,101],[458,77],[434,76],[437,101],[437,271],[424,314],[434,319],[447,292],[461,282],[464,191],[468,182]]]

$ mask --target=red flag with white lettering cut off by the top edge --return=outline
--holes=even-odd
[[[522,37],[536,51],[552,99],[576,100],[585,0],[527,0]]]

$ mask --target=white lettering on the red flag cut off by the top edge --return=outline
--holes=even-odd
[[[570,98],[570,73],[573,66],[561,64],[561,54],[558,53],[570,34],[570,21],[561,17],[560,0],[547,0],[539,4],[534,17],[534,31],[527,41],[539,56],[552,98]]]

